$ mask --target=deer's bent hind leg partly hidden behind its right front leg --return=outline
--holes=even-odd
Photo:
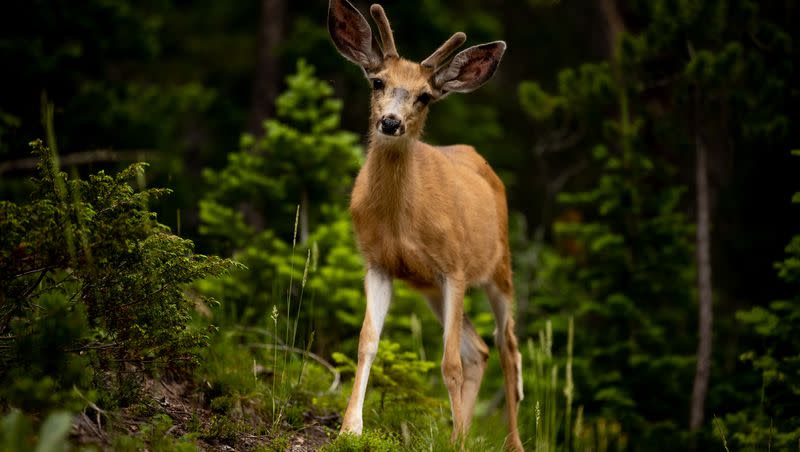
[[[438,289],[423,291],[431,310],[444,323],[444,304],[442,292]],[[483,372],[486,370],[486,362],[489,359],[489,347],[486,342],[475,331],[472,322],[467,316],[463,316],[464,321],[461,325],[461,368],[464,375],[464,383],[461,386],[461,403],[464,412],[464,434],[469,432],[472,416],[475,411],[475,402],[478,399],[478,391],[483,380]]]

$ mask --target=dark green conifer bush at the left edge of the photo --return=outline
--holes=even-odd
[[[78,409],[72,388],[90,391],[107,371],[193,362],[206,338],[188,326],[186,285],[232,262],[193,254],[155,220],[147,202],[166,191],[128,184],[143,164],[69,178],[40,141],[32,145],[41,175],[31,202],[0,202],[0,399]]]

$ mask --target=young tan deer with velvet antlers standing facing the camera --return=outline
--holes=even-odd
[[[522,357],[514,333],[505,187],[472,146],[432,146],[421,140],[429,106],[486,83],[506,43],[476,45],[449,58],[466,41],[457,32],[416,63],[397,53],[383,8],[374,4],[370,13],[380,43],[350,2],[330,0],[328,6],[334,46],[361,67],[372,88],[366,160],[350,199],[366,267],[366,312],[341,432],[362,433],[370,367],[397,278],[423,295],[443,326],[441,370],[450,399],[451,442],[462,445],[489,357],[488,346],[464,314],[464,293],[469,287],[486,291],[504,373],[506,447],[523,450],[517,427]]]

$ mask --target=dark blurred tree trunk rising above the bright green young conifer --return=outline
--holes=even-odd
[[[283,39],[285,22],[286,0],[262,0],[258,57],[248,123],[248,130],[255,136],[264,133],[262,124],[274,113],[281,76],[278,45]]]

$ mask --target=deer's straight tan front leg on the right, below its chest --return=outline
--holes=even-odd
[[[444,356],[442,376],[450,395],[450,410],[453,414],[451,441],[463,440],[466,419],[462,398],[464,369],[461,364],[461,329],[464,319],[464,290],[462,278],[446,277],[444,283]]]

